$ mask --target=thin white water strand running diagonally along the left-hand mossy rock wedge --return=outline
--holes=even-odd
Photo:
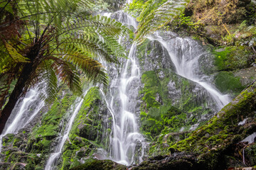
[[[87,91],[85,91],[85,95],[87,94]],[[85,97],[85,95],[83,97]],[[60,157],[60,154],[62,152],[65,141],[68,140],[68,135],[72,128],[73,122],[75,120],[75,116],[78,114],[78,111],[80,111],[80,107],[82,106],[82,102],[84,101],[84,98],[79,97],[76,100],[77,101],[75,103],[77,103],[77,104],[75,106],[75,111],[73,111],[71,117],[69,118],[68,125],[65,128],[64,135],[61,137],[60,142],[58,143],[57,147],[55,148],[55,152],[53,154],[50,154],[50,157],[48,158],[48,161],[46,162],[45,170],[54,169],[55,163],[58,161],[58,158]],[[71,110],[73,110],[73,108]]]

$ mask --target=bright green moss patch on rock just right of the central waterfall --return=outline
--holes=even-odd
[[[154,140],[157,135],[176,132],[186,124],[186,113],[172,106],[164,92],[167,89],[163,84],[168,81],[159,81],[156,72],[149,71],[142,74],[142,83],[144,89],[140,93],[144,94],[144,103],[140,117],[142,130],[149,139]]]

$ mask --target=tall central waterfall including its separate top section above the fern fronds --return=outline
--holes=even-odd
[[[127,13],[118,11],[112,14],[112,17],[127,26],[137,28],[136,20],[128,16]],[[135,52],[136,45],[132,44],[129,50],[129,59],[124,61],[124,68],[121,69],[121,77],[112,79],[110,102],[105,98],[107,108],[110,110],[113,118],[112,137],[110,137],[110,158],[115,162],[125,165],[142,162],[146,147],[144,137],[139,133],[137,117],[134,114],[136,113],[135,105],[137,103],[136,98],[140,78]],[[134,157],[136,148],[142,149],[137,158]]]

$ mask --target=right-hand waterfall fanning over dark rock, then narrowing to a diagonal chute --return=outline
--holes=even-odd
[[[230,98],[228,95],[220,94],[217,89],[208,84],[205,81],[208,77],[199,70],[198,60],[203,55],[207,55],[207,52],[204,52],[195,40],[180,38],[174,33],[170,34],[171,36],[166,32],[166,37],[164,37],[159,35],[159,32],[156,32],[149,37],[149,40],[157,40],[166,48],[177,74],[203,86],[215,101],[217,109],[223,108],[229,103]]]

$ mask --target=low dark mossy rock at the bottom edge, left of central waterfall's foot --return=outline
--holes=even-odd
[[[117,164],[111,160],[87,159],[85,164],[74,167],[70,170],[126,170],[127,167]]]

